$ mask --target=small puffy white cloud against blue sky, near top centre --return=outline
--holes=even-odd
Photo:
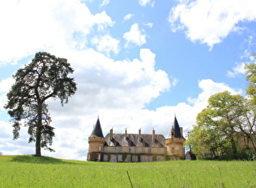
[[[146,35],[142,34],[143,30],[139,29],[139,24],[134,23],[130,28],[130,32],[123,34],[123,38],[126,40],[125,47],[129,47],[130,44],[136,44],[137,46],[142,46],[146,43]]]

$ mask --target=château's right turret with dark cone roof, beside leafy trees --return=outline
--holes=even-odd
[[[178,120],[175,116],[169,133],[169,138],[166,138],[166,146],[168,154],[175,156],[176,158],[184,159],[183,143],[185,138],[183,137],[182,131],[183,129],[178,125]]]

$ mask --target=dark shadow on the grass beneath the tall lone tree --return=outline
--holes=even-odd
[[[23,156],[14,156],[11,160],[13,162],[26,162],[26,163],[36,163],[36,164],[70,164],[70,165],[85,165],[82,162],[72,162],[62,159],[56,159],[50,156],[32,156],[32,155],[23,155]]]

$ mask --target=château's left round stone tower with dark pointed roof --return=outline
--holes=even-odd
[[[105,144],[105,138],[102,134],[102,127],[98,120],[93,127],[93,132],[88,138],[89,150],[87,154],[87,161],[102,161],[102,152]]]

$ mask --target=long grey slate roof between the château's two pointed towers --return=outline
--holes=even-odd
[[[163,135],[155,135],[152,141],[150,134],[127,134],[113,133],[113,139],[110,140],[110,134],[105,136],[105,146],[129,146],[129,147],[166,147],[166,138]]]

